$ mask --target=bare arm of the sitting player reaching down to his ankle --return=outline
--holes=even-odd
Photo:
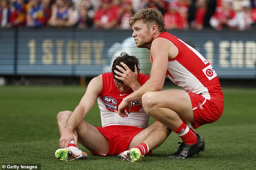
[[[78,139],[76,135],[74,135],[73,131],[81,123],[81,121],[84,119],[85,115],[90,111],[90,109],[92,109],[92,106],[94,105],[97,97],[101,93],[101,90],[102,76],[100,75],[98,77],[93,78],[90,81],[84,96],[80,100],[80,103],[69,117],[67,125],[63,129],[63,134],[61,135],[61,138],[59,140],[61,148],[67,147],[67,145],[72,139],[77,144]]]

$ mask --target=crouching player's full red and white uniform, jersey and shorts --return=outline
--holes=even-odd
[[[217,121],[222,115],[224,100],[218,76],[210,63],[198,51],[170,33],[161,33],[157,38],[168,39],[178,48],[178,55],[168,60],[166,75],[189,93],[194,114],[192,126],[196,129]]]

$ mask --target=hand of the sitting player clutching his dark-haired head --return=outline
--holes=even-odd
[[[114,70],[115,74],[118,75],[118,76],[115,75],[115,78],[117,78],[118,80],[121,80],[122,82],[124,82],[124,84],[130,87],[138,83],[138,69],[136,65],[134,66],[134,72],[133,72],[125,63],[121,62],[120,64],[124,66],[125,69],[120,66],[115,66],[118,70],[120,70],[120,72],[118,72],[117,70]]]

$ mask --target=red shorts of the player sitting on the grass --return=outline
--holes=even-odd
[[[124,152],[133,137],[144,130],[135,126],[126,125],[112,125],[96,128],[109,140],[109,152],[107,155],[119,155]]]

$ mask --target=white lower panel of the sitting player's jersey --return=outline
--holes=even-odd
[[[143,107],[139,112],[131,112],[128,117],[120,117],[118,112],[109,111],[106,109],[101,97],[97,98],[99,109],[101,111],[101,126],[111,125],[128,125],[139,128],[147,128],[149,122],[149,115],[145,113]]]

